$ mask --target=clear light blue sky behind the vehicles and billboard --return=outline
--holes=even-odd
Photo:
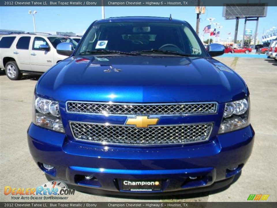
[[[39,32],[74,32],[82,34],[89,25],[102,18],[101,7],[0,7],[0,29],[34,31],[32,15],[29,10],[37,10],[35,14],[36,31]],[[234,37],[235,20],[225,20],[222,17],[222,7],[206,7],[205,14],[200,15],[199,36],[203,36],[203,29],[209,24],[207,18],[216,18],[214,22],[222,27],[220,38],[227,40],[231,32]],[[260,18],[258,38],[267,30],[275,26],[277,7],[268,7],[267,17]],[[105,18],[116,16],[161,16],[185,20],[196,28],[196,14],[194,7],[105,7]],[[246,29],[255,31],[256,21],[247,22]],[[214,27],[214,25],[212,25]],[[244,20],[239,20],[238,40],[242,39]],[[205,40],[208,34],[205,34]]]

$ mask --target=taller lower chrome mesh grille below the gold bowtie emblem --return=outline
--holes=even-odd
[[[127,145],[157,145],[208,140],[213,123],[136,128],[126,125],[70,122],[70,127],[77,140]]]

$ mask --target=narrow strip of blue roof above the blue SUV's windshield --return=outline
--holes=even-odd
[[[151,16],[126,16],[126,17],[110,17],[98,20],[97,22],[120,22],[120,21],[150,21],[150,22],[175,22],[187,23],[186,21],[172,19],[170,17],[151,17]]]

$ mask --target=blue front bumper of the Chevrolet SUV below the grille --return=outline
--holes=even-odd
[[[172,147],[94,145],[69,140],[65,134],[33,124],[28,129],[31,155],[51,178],[85,190],[118,193],[128,192],[122,190],[121,179],[162,179],[159,192],[167,193],[215,186],[215,182],[228,181],[240,172],[251,154],[253,142],[251,125],[217,135],[207,142]],[[48,171],[42,163],[55,169]],[[234,166],[238,168],[227,170]],[[82,180],[86,175],[93,176],[93,180]],[[188,177],[198,179],[190,181]]]

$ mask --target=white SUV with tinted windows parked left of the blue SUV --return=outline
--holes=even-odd
[[[23,33],[2,36],[0,40],[0,68],[5,69],[11,80],[18,80],[22,73],[42,74],[51,66],[67,58],[59,55],[56,47],[61,42],[77,42],[71,38],[42,33]]]

